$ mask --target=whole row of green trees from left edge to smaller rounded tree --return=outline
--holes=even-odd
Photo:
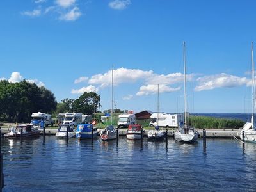
[[[31,114],[80,112],[88,115],[97,112],[100,96],[84,92],[77,99],[56,102],[54,94],[44,86],[23,80],[19,83],[0,81],[0,122],[30,122]]]

